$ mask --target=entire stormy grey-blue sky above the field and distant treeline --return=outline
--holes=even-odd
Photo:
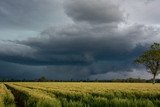
[[[150,79],[133,61],[160,42],[159,5],[159,0],[0,0],[0,78]]]

